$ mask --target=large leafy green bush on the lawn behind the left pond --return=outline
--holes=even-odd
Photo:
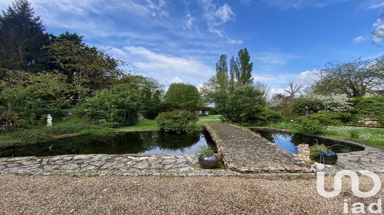
[[[82,113],[103,124],[134,125],[137,123],[137,97],[129,92],[102,90],[82,104]]]

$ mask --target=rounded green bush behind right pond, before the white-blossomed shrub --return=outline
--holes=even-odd
[[[310,134],[320,134],[324,132],[329,125],[336,124],[335,116],[328,111],[319,111],[316,114],[310,114],[306,117],[298,117],[295,122],[295,127],[299,132]]]

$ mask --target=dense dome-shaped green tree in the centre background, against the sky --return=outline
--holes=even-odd
[[[189,83],[171,83],[164,98],[166,102],[179,104],[188,110],[201,105],[199,90]]]

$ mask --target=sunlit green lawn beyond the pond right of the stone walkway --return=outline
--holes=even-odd
[[[270,123],[268,127],[283,128],[295,131],[295,128],[292,126],[292,123],[289,121]],[[319,136],[352,140],[374,147],[384,148],[384,128],[329,126]]]

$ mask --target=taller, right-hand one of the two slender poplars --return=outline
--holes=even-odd
[[[252,83],[252,69],[253,62],[249,62],[251,57],[247,48],[240,49],[238,52],[239,57],[237,58],[237,67],[239,68],[237,71],[237,81],[242,84]],[[236,68],[236,67],[235,67]],[[236,71],[236,69],[234,69]]]

